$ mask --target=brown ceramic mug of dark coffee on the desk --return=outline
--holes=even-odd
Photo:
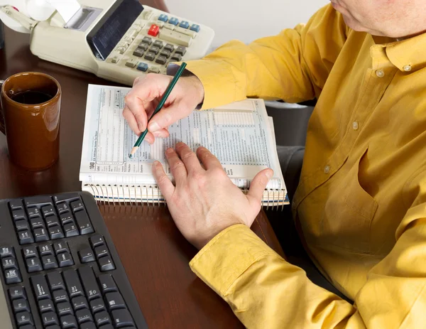
[[[30,171],[49,168],[59,157],[61,89],[39,72],[22,72],[0,80],[0,131],[9,158]]]

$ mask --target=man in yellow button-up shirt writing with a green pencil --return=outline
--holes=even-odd
[[[195,76],[176,85],[150,122],[152,142],[198,104],[318,99],[293,215],[312,260],[354,305],[312,284],[249,230],[270,170],[245,197],[203,148],[197,156],[185,144],[167,151],[175,185],[153,167],[176,225],[200,248],[192,270],[246,327],[426,327],[423,31],[424,0],[336,0],[306,26],[250,45],[231,41],[188,63]],[[169,81],[135,82],[124,116],[137,133]]]

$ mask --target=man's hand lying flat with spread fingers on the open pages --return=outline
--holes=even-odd
[[[176,226],[195,247],[201,249],[231,225],[251,226],[261,210],[263,190],[273,176],[271,169],[258,173],[249,193],[244,195],[226,176],[219,160],[204,147],[198,148],[196,155],[186,144],[178,143],[176,151],[168,149],[165,155],[175,185],[158,161],[153,163],[153,175]]]

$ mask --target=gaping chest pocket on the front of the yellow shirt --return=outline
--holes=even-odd
[[[367,150],[349,171],[337,172],[334,182],[339,183],[329,185],[329,198],[322,216],[325,244],[361,253],[370,252],[370,225],[378,207],[359,183],[359,164]]]

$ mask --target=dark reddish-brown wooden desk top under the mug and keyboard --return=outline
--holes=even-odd
[[[0,199],[81,190],[78,178],[87,84],[114,85],[86,72],[39,60],[29,36],[5,31],[0,50],[0,79],[16,72],[53,75],[62,86],[60,159],[47,171],[23,171],[9,161],[0,134]],[[244,328],[231,308],[195,276],[188,262],[197,250],[180,234],[165,207],[100,205],[150,328]],[[282,254],[263,212],[253,230]]]

